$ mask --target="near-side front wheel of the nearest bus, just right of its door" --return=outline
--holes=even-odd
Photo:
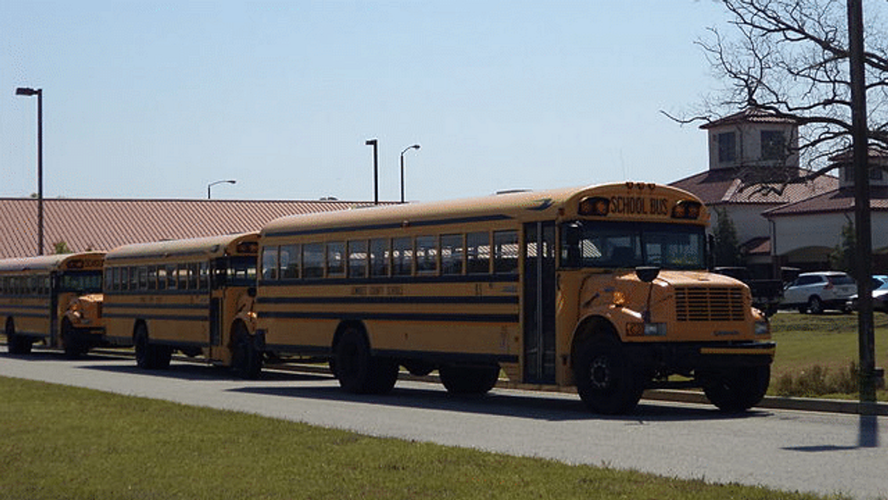
[[[644,381],[631,367],[622,344],[610,335],[596,335],[580,346],[574,377],[580,399],[600,414],[629,413],[644,391]]]

